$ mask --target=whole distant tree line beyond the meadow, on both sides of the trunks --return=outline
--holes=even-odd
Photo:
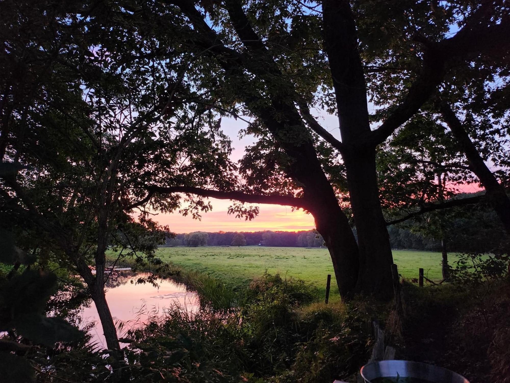
[[[443,246],[446,242],[448,252],[500,253],[506,246],[504,228],[496,213],[483,204],[476,208],[459,207],[441,212],[441,216],[437,212],[425,214],[418,220],[388,226],[388,233],[392,249],[441,251],[442,240]],[[315,230],[195,231],[176,234],[166,241],[166,246],[320,247],[323,244],[322,236]]]

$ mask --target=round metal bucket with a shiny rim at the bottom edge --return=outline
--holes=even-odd
[[[361,368],[361,376],[366,383],[381,377],[418,378],[432,383],[469,383],[469,380],[446,368],[426,363],[409,361],[380,361]]]

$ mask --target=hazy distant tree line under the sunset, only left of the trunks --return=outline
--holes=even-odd
[[[244,240],[244,242],[243,242]],[[244,244],[243,244],[244,243]],[[254,231],[254,232],[202,232],[176,234],[168,238],[166,246],[276,246],[276,247],[320,247],[322,236],[314,230],[308,231]]]

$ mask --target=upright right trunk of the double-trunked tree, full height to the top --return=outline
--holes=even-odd
[[[390,297],[393,257],[382,216],[370,135],[367,92],[354,16],[346,0],[323,0],[324,47],[338,106],[349,196],[358,233],[360,268],[356,291]]]

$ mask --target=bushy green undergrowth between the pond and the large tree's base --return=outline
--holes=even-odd
[[[316,298],[311,284],[266,272],[238,297],[240,305],[227,312],[173,306],[128,334],[130,350],[148,347],[152,368],[161,372],[162,342],[180,347],[180,376],[207,381],[334,380],[353,374],[367,358],[367,316],[342,303],[310,304]]]

